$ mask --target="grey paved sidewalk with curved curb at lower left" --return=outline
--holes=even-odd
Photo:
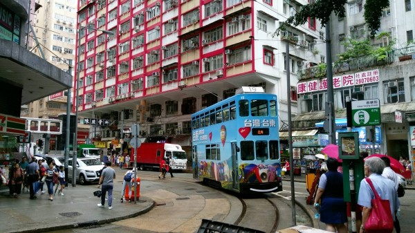
[[[46,188],[46,187],[45,187]],[[149,212],[154,201],[141,196],[136,204],[120,203],[120,192],[113,192],[113,209],[97,206],[100,198],[93,196],[91,186],[67,187],[65,196],[56,195],[49,201],[48,194],[38,194],[30,200],[28,193],[19,198],[0,196],[0,232],[48,232],[73,227],[110,223]],[[40,192],[39,192],[40,193]]]

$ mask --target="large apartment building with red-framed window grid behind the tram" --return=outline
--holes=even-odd
[[[83,118],[110,122],[93,129],[90,137],[113,142],[137,122],[143,138],[163,136],[190,146],[190,114],[241,86],[277,94],[280,119],[286,120],[288,93],[296,111],[297,71],[324,60],[317,21],[275,35],[279,21],[305,3],[79,1],[80,72],[75,80],[80,95],[75,105]]]

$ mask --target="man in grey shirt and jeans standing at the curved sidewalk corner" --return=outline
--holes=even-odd
[[[98,182],[98,188],[102,184],[101,188],[101,203],[98,204],[98,207],[104,208],[105,206],[105,196],[108,192],[108,209],[112,209],[112,192],[114,179],[116,178],[116,171],[111,167],[111,161],[105,163],[105,169],[102,170],[100,181]]]

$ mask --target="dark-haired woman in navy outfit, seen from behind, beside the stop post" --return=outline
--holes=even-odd
[[[320,221],[326,223],[329,232],[347,233],[346,203],[343,201],[343,176],[337,171],[338,160],[327,160],[329,171],[322,174],[315,194],[314,205],[320,205]]]

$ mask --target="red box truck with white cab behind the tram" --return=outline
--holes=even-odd
[[[187,165],[186,152],[180,145],[171,143],[145,142],[137,149],[137,167],[140,170],[158,168],[160,160],[172,156],[172,169],[184,170]],[[133,162],[133,161],[131,161]]]

